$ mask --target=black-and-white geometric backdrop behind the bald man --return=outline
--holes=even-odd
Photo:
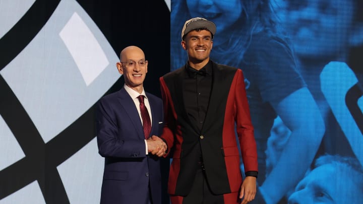
[[[0,203],[99,203],[104,159],[94,104],[123,86],[115,63],[129,45],[145,51],[145,89],[160,95],[158,76],[169,70],[168,5],[1,1]]]

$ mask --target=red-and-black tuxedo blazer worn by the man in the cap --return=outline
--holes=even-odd
[[[181,196],[189,193],[196,170],[200,168],[200,150],[212,192],[236,192],[242,177],[235,130],[245,171],[258,171],[243,73],[213,62],[212,90],[202,130],[190,121],[184,106],[185,77],[187,72],[183,66],[160,78],[165,120],[161,138],[172,153],[168,193]]]

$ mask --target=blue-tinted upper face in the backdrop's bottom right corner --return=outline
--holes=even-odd
[[[352,171],[344,164],[319,166],[297,184],[288,203],[360,203],[362,195]]]

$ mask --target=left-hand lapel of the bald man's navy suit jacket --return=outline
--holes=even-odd
[[[144,131],[139,113],[135,107],[133,99],[130,97],[129,93],[127,93],[124,88],[118,91],[118,101],[120,102],[120,105],[123,106],[124,110],[126,111],[132,123],[134,124],[135,130],[138,133],[139,137],[141,139],[144,139],[145,138]]]

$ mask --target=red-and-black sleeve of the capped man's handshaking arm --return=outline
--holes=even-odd
[[[166,145],[168,146],[167,153],[169,153],[174,144],[176,114],[173,111],[174,108],[169,89],[167,88],[165,81],[162,77],[160,78],[160,89],[161,89],[161,96],[163,100],[163,109],[164,109],[164,127],[163,127],[163,133],[161,134],[161,138],[166,142]],[[167,155],[164,155],[164,157],[166,156]]]

